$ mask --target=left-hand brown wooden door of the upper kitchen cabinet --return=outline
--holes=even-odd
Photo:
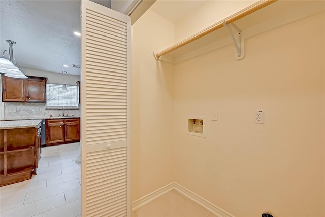
[[[3,102],[23,102],[25,101],[25,81],[24,79],[14,79],[2,76],[2,101]]]

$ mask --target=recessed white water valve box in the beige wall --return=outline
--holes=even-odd
[[[206,137],[205,116],[188,116],[187,134]]]

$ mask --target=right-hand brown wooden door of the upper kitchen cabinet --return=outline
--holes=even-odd
[[[43,79],[28,79],[26,101],[46,102],[45,85],[46,81]]]

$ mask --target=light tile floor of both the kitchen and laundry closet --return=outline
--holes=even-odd
[[[0,187],[1,217],[80,217],[78,143],[42,148],[37,175]],[[110,216],[111,217],[111,216]],[[131,217],[216,217],[172,190],[132,212]]]

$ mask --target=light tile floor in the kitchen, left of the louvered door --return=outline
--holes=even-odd
[[[0,216],[81,216],[78,148],[79,142],[42,148],[37,175],[0,187]]]

